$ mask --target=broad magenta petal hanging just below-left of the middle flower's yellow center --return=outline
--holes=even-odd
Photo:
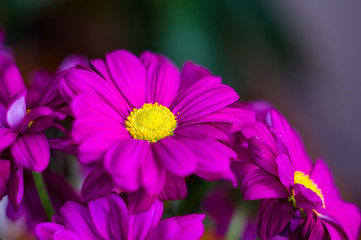
[[[105,155],[105,169],[112,175],[117,186],[135,191],[140,186],[139,169],[150,151],[150,143],[129,138],[111,147]]]

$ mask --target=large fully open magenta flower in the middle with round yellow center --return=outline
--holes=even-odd
[[[137,58],[117,50],[92,65],[74,68],[60,84],[75,117],[78,157],[97,166],[86,180],[92,194],[85,195],[116,187],[175,200],[186,196],[184,177],[190,174],[233,179],[235,153],[222,141],[233,123],[253,113],[230,107],[238,95],[221,78],[192,63],[180,73],[150,52]],[[105,175],[114,183],[99,181]]]

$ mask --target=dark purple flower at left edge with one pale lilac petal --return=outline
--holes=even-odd
[[[44,130],[66,116],[53,79],[38,75],[26,88],[9,51],[0,46],[0,199],[8,194],[15,210],[24,192],[23,168],[41,172],[48,166],[50,147]]]

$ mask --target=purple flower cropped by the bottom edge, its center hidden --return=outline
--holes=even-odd
[[[154,202],[149,210],[130,214],[123,199],[111,194],[88,203],[67,202],[54,216],[54,223],[41,223],[35,234],[40,240],[142,240],[200,239],[203,214],[189,214],[160,220],[163,203]]]

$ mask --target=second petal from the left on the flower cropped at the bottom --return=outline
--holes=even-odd
[[[76,202],[66,202],[60,208],[60,214],[67,229],[78,234],[83,239],[100,239],[91,220],[88,209]]]

